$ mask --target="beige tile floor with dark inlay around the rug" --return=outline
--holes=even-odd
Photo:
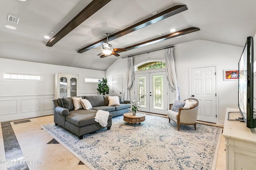
[[[2,122],[0,170],[89,170],[40,127],[48,123],[53,123],[53,115]],[[225,139],[222,137],[216,170],[225,167]]]

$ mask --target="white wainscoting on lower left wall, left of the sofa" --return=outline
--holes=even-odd
[[[0,122],[53,115],[54,94],[0,96]]]

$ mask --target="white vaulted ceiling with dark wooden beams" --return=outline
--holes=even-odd
[[[95,70],[106,70],[122,57],[198,39],[243,47],[246,37],[256,33],[255,0],[2,0],[0,3],[0,58]],[[187,10],[174,9],[175,14],[160,16],[177,5],[185,5]],[[75,18],[80,12],[84,15]],[[8,15],[19,18],[18,24],[7,21]],[[68,25],[70,21],[74,22]],[[174,33],[170,32],[173,28]],[[188,29],[193,31],[186,32]],[[93,44],[106,42],[104,33],[111,34],[109,43],[114,48],[127,51],[118,53],[119,57],[100,58],[97,56],[100,50],[86,49],[102,48]],[[180,37],[179,33],[184,35]],[[52,44],[44,38],[46,35],[55,37]]]

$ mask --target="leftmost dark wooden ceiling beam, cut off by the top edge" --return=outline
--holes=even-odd
[[[64,36],[66,36],[70,31],[75,29],[83,21],[87,20],[95,12],[100,10],[103,6],[108,4],[111,0],[93,0],[88,6],[86,6],[79,14],[77,14],[71,21],[67,23],[56,35],[54,35],[50,41],[47,42],[46,46],[52,47],[55,43],[60,41]]]

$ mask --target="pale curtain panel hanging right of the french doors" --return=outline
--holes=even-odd
[[[175,90],[174,100],[180,100],[178,80],[176,77],[175,64],[174,64],[174,47],[168,47],[164,49],[165,63],[166,63],[166,75],[170,87]]]

